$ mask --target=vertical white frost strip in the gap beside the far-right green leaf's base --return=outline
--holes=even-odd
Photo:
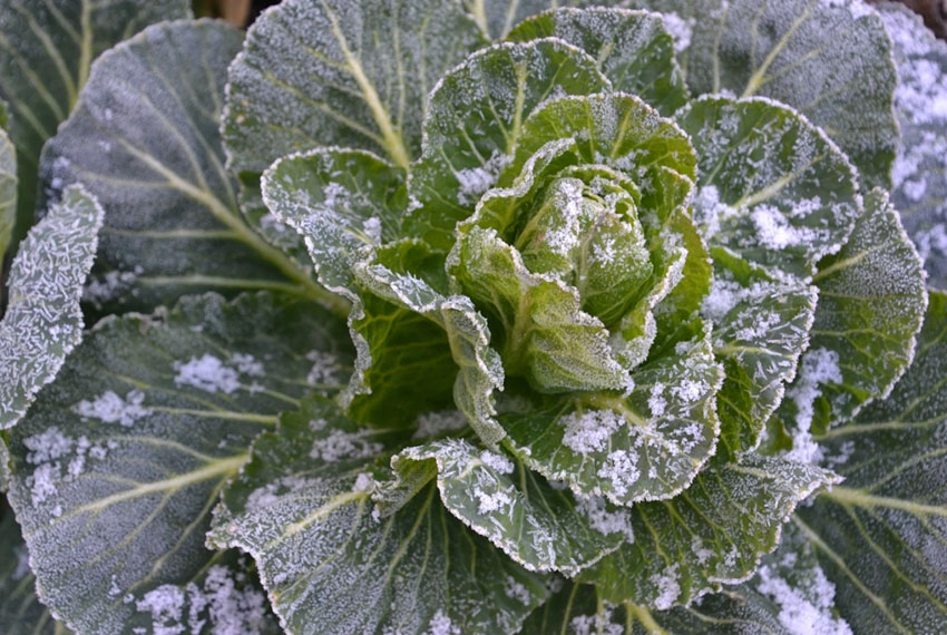
[[[826,383],[841,383],[842,371],[839,368],[839,353],[828,349],[807,351],[799,364],[799,375],[795,383],[787,391],[787,397],[795,402],[795,429],[793,431],[792,450],[785,459],[816,463],[822,458],[822,451],[812,438],[812,416],[814,402],[822,394]]]

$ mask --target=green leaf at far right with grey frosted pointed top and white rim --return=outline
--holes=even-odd
[[[886,192],[866,196],[848,243],[819,263],[812,280],[819,305],[810,348],[838,352],[841,381],[821,383],[816,406],[804,387],[795,398],[800,411],[818,413],[812,426],[823,430],[890,392],[914,359],[924,321],[921,262]]]

